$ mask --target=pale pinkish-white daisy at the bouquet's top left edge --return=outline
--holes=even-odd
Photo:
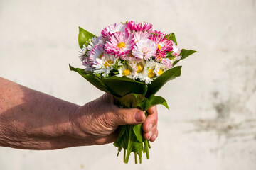
[[[114,23],[104,28],[101,33],[104,37],[110,37],[114,33],[124,32],[125,28],[127,28],[127,24]]]

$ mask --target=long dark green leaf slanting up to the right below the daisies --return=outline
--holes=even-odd
[[[154,81],[151,84],[148,84],[148,90],[146,92],[146,98],[151,98],[156,94],[159,89],[161,89],[164,84],[166,84],[167,81],[175,79],[176,77],[179,77],[181,75],[181,66],[174,67],[172,69],[167,70],[161,76],[154,79]]]

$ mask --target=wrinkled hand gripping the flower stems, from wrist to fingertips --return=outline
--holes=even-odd
[[[119,108],[110,94],[104,94],[73,113],[73,131],[77,139],[90,142],[82,145],[102,145],[117,139],[119,125],[143,123],[144,138],[153,142],[158,135],[156,106],[149,108],[148,114],[146,118],[137,108]]]

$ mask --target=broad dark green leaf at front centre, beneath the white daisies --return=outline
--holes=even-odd
[[[100,79],[102,79],[102,82],[110,90],[111,94],[118,98],[131,93],[142,94],[142,96],[146,94],[147,87],[144,82],[135,81],[125,76],[101,77]]]

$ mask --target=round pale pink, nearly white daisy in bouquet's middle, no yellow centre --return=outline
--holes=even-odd
[[[136,42],[132,55],[139,59],[149,60],[152,56],[156,55],[156,43],[149,39],[142,39]]]

